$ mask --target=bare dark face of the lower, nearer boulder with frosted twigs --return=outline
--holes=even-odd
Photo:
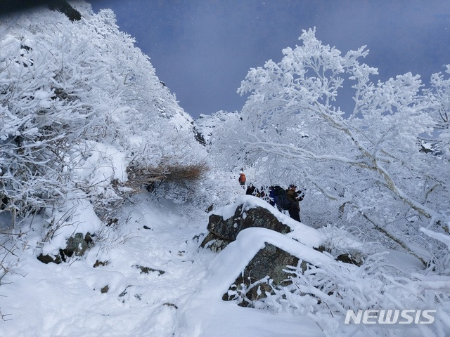
[[[266,244],[250,260],[243,273],[239,275],[227,293],[224,293],[223,300],[237,300],[239,305],[251,306],[252,303],[266,297],[266,292],[271,293],[272,287],[282,287],[290,284],[290,273],[285,270],[288,266],[297,267],[299,258],[290,255],[283,249]],[[302,261],[302,270],[307,270],[308,263]],[[236,294],[236,292],[238,294]]]

